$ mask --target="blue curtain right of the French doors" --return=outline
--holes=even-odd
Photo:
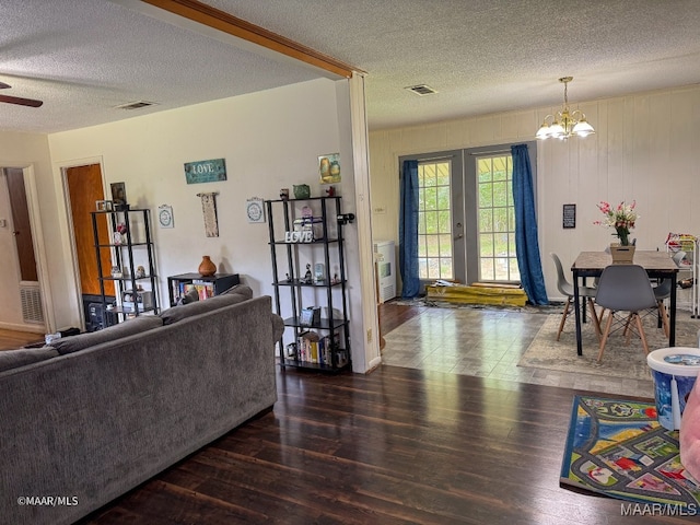
[[[513,203],[515,207],[515,252],[521,283],[533,304],[549,304],[537,241],[533,172],[526,144],[511,147],[513,155]]]

